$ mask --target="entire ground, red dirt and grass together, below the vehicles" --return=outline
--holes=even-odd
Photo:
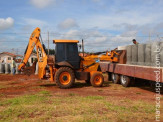
[[[138,81],[136,86],[125,88],[106,81],[104,76],[103,87],[76,81],[73,88],[60,89],[36,75],[1,74],[0,122],[155,121],[156,96],[149,85]]]

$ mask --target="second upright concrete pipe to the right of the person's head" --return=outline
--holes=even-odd
[[[145,63],[146,66],[151,66],[151,44],[145,45]]]

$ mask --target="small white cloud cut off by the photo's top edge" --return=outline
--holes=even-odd
[[[30,3],[37,8],[46,8],[55,2],[56,0],[30,0]]]

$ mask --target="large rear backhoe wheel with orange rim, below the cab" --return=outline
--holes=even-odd
[[[55,81],[59,88],[71,88],[75,82],[75,74],[71,68],[61,67],[55,73]]]

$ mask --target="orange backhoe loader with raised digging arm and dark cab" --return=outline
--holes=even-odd
[[[40,40],[42,40],[40,28],[36,28],[30,36],[23,63],[18,67],[19,70],[28,69],[26,71],[30,74],[30,68],[26,68],[25,65],[36,46],[40,79],[50,78],[60,88],[71,88],[75,79],[85,80],[94,87],[102,86],[104,77],[99,70],[98,56],[80,57],[78,54],[78,40],[53,40],[53,43],[55,43],[54,59],[47,56],[45,46]],[[107,60],[117,61],[114,57],[106,57]]]

